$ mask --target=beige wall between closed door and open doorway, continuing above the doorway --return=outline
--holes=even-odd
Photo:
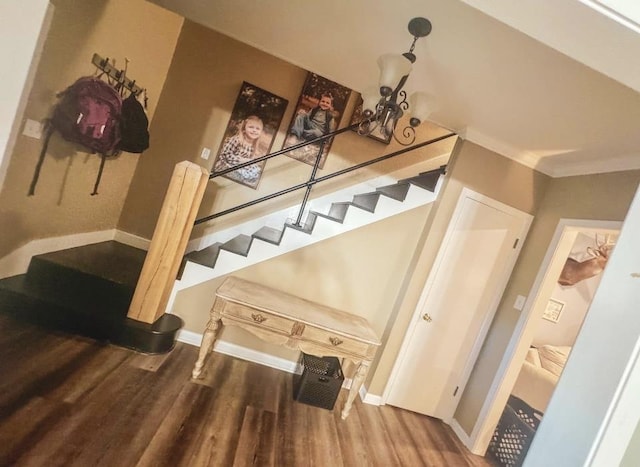
[[[637,170],[550,181],[455,414],[467,433],[478,418],[520,316],[513,308],[516,296],[529,295],[558,221],[623,220],[639,182]]]

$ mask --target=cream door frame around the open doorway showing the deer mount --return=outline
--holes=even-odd
[[[566,218],[558,221],[556,231],[547,247],[547,252],[540,264],[536,279],[471,434],[464,433],[459,425],[456,426],[457,422],[454,420],[456,422],[453,426],[454,431],[474,454],[484,455],[489,446],[495,426],[520,372],[527,349],[533,341],[535,325],[538,323],[538,319],[542,318],[544,308],[551,298],[553,286],[571,252],[576,236],[580,232],[613,233],[615,231],[617,233],[621,228],[621,221]],[[553,417],[553,412],[545,414],[547,423],[550,423],[549,419],[553,420]]]

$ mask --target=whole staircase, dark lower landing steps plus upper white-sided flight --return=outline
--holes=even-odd
[[[312,210],[303,225],[263,226],[185,256],[175,294],[213,277],[433,202],[444,167]],[[115,241],[31,258],[26,274],[0,280],[0,313],[145,353],[171,350],[183,325],[165,313],[152,324],[127,318],[146,252]],[[171,308],[171,303],[168,309]]]

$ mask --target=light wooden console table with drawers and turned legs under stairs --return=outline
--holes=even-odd
[[[357,369],[342,409],[343,420],[380,345],[364,318],[230,276],[216,291],[193,378],[200,377],[221,324],[240,326],[267,342],[307,354],[353,361]]]

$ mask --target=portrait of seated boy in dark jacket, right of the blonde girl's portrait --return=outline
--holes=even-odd
[[[315,73],[308,73],[282,148],[311,141],[338,129],[350,96],[351,89]],[[320,168],[324,167],[331,143],[332,138],[324,141],[320,155]],[[306,164],[314,165],[319,151],[319,143],[312,143],[286,154]]]

